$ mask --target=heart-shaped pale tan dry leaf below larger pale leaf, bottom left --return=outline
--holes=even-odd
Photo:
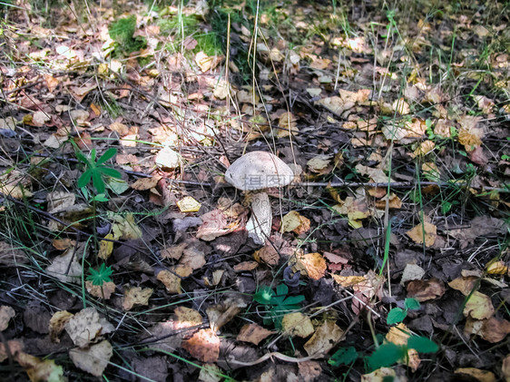
[[[98,378],[103,376],[103,371],[112,356],[112,345],[106,339],[90,348],[73,348],[69,351],[69,357],[73,360],[75,367]]]

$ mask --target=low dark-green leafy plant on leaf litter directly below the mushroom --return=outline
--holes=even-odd
[[[294,310],[300,309],[300,303],[305,299],[304,296],[287,296],[289,288],[285,284],[276,287],[276,291],[270,287],[260,287],[253,295],[253,300],[259,304],[265,305],[269,313],[268,318],[264,318],[264,325],[271,322],[275,328],[281,328],[281,318]]]

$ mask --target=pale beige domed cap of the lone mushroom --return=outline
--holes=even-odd
[[[225,180],[242,191],[283,187],[293,179],[290,167],[270,152],[249,152],[225,171]]]

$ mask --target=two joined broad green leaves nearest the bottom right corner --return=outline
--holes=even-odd
[[[407,351],[410,348],[414,348],[419,353],[436,353],[439,349],[434,341],[421,336],[409,337],[406,345],[387,342],[367,358],[368,369],[373,371],[380,367],[393,366],[399,360],[407,360]]]

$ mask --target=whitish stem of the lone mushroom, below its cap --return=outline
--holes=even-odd
[[[272,213],[270,197],[266,192],[257,192],[251,197],[251,216],[246,223],[248,237],[255,244],[263,245],[270,237]]]

